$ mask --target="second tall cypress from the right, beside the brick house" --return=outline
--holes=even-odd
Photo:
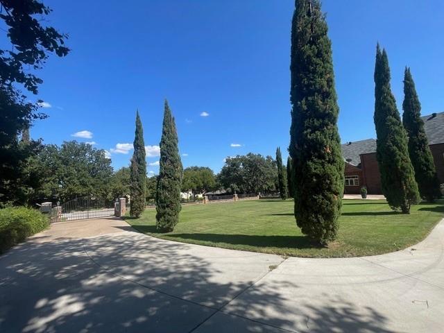
[[[375,63],[376,156],[382,193],[393,210],[409,214],[418,203],[418,185],[407,150],[407,133],[390,87],[390,68],[385,50],[376,50]]]

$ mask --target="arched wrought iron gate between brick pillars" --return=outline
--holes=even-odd
[[[51,222],[96,219],[113,216],[114,203],[112,200],[84,196],[67,201],[51,210]]]

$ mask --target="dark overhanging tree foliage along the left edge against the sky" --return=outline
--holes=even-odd
[[[33,94],[42,83],[35,70],[43,67],[51,53],[66,56],[62,35],[48,22],[51,10],[37,0],[0,0],[0,19],[3,19],[3,49],[0,49],[0,205],[24,204],[28,189],[35,182],[26,168],[39,148],[40,142],[28,139],[28,128],[35,119],[46,118],[38,112],[40,103],[30,103],[20,92],[22,86]],[[23,133],[24,147],[18,136]],[[32,193],[30,194],[32,196]]]

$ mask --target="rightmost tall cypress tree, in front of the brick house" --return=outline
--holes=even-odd
[[[438,176],[436,175],[432,151],[430,151],[427,135],[425,135],[424,121],[421,119],[421,104],[416,94],[415,83],[410,69],[404,71],[404,102],[402,103],[402,123],[409,137],[409,156],[415,179],[418,183],[422,198],[433,202],[441,197]]]

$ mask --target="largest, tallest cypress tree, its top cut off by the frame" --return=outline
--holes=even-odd
[[[344,187],[332,45],[319,0],[296,0],[291,29],[290,155],[296,223],[321,244],[336,238]]]

